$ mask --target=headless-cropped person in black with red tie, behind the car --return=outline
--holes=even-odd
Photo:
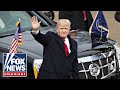
[[[59,19],[69,19],[71,21],[71,30],[82,29],[89,31],[93,22],[90,11],[59,11]]]

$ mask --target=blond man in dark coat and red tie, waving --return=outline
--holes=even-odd
[[[77,42],[70,38],[71,22],[61,19],[56,25],[57,33],[42,34],[37,17],[31,18],[32,35],[44,46],[43,63],[38,79],[79,79]]]

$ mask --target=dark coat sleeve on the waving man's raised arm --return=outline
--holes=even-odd
[[[50,42],[50,32],[47,32],[46,34],[39,33],[37,35],[33,34],[31,32],[32,36],[35,38],[37,42],[42,44],[43,46],[47,46],[48,43]]]

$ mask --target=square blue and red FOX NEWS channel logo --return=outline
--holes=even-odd
[[[27,55],[4,53],[3,77],[27,77]]]

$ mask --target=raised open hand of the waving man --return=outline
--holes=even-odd
[[[38,19],[36,16],[33,16],[31,19],[31,24],[32,24],[32,28],[33,28],[33,31],[37,31],[40,27],[40,23],[41,22],[38,22]]]

